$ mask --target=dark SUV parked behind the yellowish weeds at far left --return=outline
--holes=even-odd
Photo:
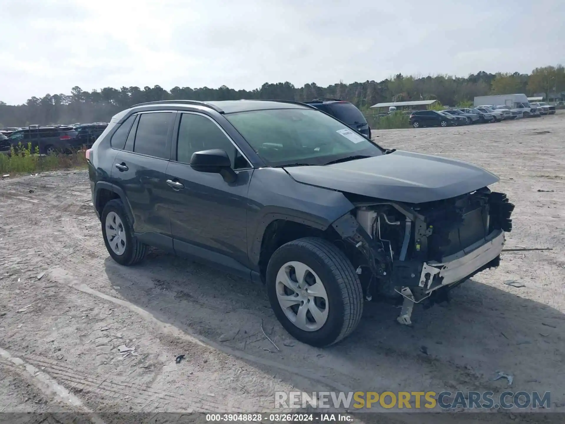
[[[40,127],[29,126],[11,133],[8,141],[14,149],[19,148],[19,144],[25,149],[31,143],[32,150],[39,149],[40,154],[55,154],[75,148],[71,141],[76,133],[72,132],[72,127]]]

